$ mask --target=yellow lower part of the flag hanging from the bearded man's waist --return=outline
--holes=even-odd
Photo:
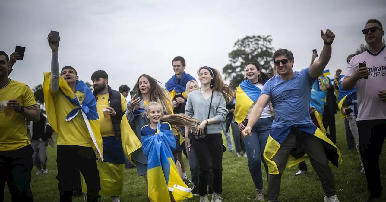
[[[100,196],[120,196],[124,186],[125,164],[112,164],[97,161],[100,179]],[[87,193],[85,179],[82,180],[82,192]]]

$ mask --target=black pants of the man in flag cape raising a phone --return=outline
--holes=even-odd
[[[95,159],[92,147],[58,145],[56,179],[59,181],[60,202],[72,202],[73,188],[76,186],[74,182],[79,177],[79,170],[87,184],[87,201],[98,201],[100,179]]]

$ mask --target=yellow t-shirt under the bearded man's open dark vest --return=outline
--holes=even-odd
[[[121,108],[122,112],[126,111],[127,102],[126,99],[121,96]],[[113,122],[111,120],[111,117],[108,119],[105,119],[105,115],[103,115],[103,108],[108,107],[108,97],[109,94],[98,94],[97,95],[97,112],[99,115],[99,121],[100,121],[100,134],[102,137],[111,137],[115,135],[114,128],[113,128]]]

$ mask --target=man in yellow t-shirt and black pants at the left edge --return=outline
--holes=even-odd
[[[8,78],[11,65],[0,51],[0,201],[7,182],[12,202],[32,202],[30,189],[32,154],[25,119],[38,122],[40,114],[32,90]]]

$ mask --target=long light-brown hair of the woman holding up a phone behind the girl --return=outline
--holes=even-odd
[[[137,90],[138,96],[142,95],[141,91],[139,90],[139,79],[141,77],[146,77],[147,80],[149,80],[150,83],[150,91],[149,91],[149,102],[157,102],[162,105],[163,109],[166,111],[166,114],[172,114],[172,111],[169,107],[171,104],[170,97],[168,93],[166,93],[166,88],[156,80],[155,78],[147,75],[147,74],[142,74],[139,76],[137,82],[134,85],[134,90]]]

